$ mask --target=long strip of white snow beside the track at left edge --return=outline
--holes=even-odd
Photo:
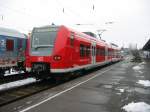
[[[10,88],[16,88],[16,87],[27,85],[27,84],[31,84],[33,82],[36,82],[36,79],[27,78],[27,79],[24,79],[24,80],[19,80],[19,81],[14,81],[14,82],[2,84],[2,85],[0,85],[0,91],[8,90]]]

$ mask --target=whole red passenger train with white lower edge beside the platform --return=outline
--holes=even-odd
[[[74,72],[121,59],[117,46],[66,26],[34,28],[27,47],[26,71],[36,74]]]

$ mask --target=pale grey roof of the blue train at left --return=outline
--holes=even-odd
[[[3,28],[3,27],[0,27],[0,35],[6,35],[6,36],[11,36],[11,37],[19,37],[19,38],[26,38],[26,36],[23,33],[20,33],[17,30],[9,29],[9,28]]]

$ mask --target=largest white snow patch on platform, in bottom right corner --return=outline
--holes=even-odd
[[[131,102],[125,105],[122,109],[127,112],[150,112],[150,105],[145,102]]]

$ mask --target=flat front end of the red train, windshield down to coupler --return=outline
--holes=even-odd
[[[33,29],[28,40],[26,71],[36,75],[50,73],[58,28],[45,26]]]

